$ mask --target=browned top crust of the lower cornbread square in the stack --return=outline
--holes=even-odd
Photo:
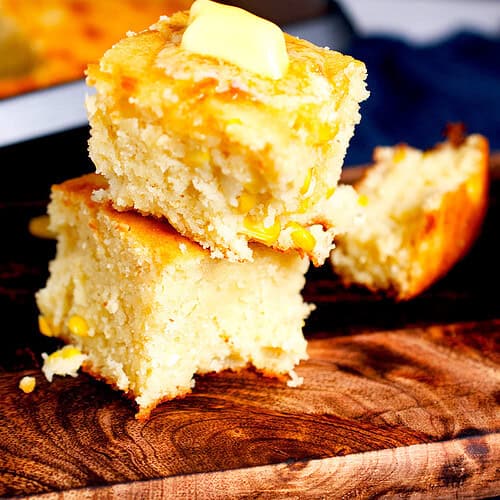
[[[179,258],[209,256],[208,251],[177,233],[168,222],[137,212],[118,212],[109,202],[92,200],[96,189],[107,186],[103,177],[88,174],[76,179],[70,179],[52,187],[53,193],[62,193],[64,203],[85,203],[91,210],[105,212],[107,217],[116,224],[116,229],[137,247],[151,249],[163,262]],[[89,223],[92,225],[92,221]]]

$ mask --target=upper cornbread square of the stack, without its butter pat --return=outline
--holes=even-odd
[[[100,196],[167,218],[213,257],[251,260],[258,241],[320,265],[351,223],[355,195],[336,187],[364,64],[284,35],[289,64],[273,79],[184,50],[188,20],[162,17],[89,66]]]

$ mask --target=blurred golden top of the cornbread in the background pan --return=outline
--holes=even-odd
[[[90,62],[128,30],[142,30],[191,0],[0,0],[0,15],[15,23],[36,64],[0,78],[0,97],[83,77]]]

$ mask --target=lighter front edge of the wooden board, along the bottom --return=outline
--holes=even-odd
[[[497,492],[491,478],[498,476],[495,457],[499,453],[499,434],[489,434],[348,457],[82,488],[37,498],[481,498]]]

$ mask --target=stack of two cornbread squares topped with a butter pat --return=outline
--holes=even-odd
[[[88,70],[101,175],[53,188],[43,329],[143,417],[196,373],[299,383],[309,258],[324,262],[356,205],[336,188],[364,78],[208,0],[116,44]]]

